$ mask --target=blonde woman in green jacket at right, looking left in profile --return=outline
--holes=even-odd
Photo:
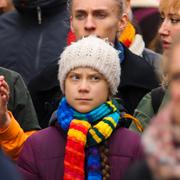
[[[162,22],[158,33],[162,41],[163,53],[171,61],[168,57],[169,48],[174,36],[180,33],[180,1],[160,0],[159,12]],[[162,65],[163,63],[162,61]],[[161,77],[162,86],[144,96],[135,109],[134,116],[141,121],[144,128],[149,124],[152,117],[169,101],[169,82],[167,76],[168,69],[163,68]],[[131,128],[136,129],[133,123]]]

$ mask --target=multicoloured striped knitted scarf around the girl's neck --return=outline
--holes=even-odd
[[[120,114],[111,102],[82,114],[74,110],[63,98],[57,110],[59,125],[67,131],[64,159],[64,179],[85,179],[85,147],[87,153],[87,179],[102,179],[100,155],[97,144],[110,137],[116,128]]]

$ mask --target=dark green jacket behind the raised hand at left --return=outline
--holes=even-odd
[[[20,74],[0,67],[10,88],[8,110],[10,110],[24,131],[40,129],[29,91]]]

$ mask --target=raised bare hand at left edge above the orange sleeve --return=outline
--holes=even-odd
[[[7,109],[9,94],[9,86],[4,79],[4,76],[0,76],[0,128],[8,127],[10,123]]]

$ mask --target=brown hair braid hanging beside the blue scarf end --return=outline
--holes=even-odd
[[[109,165],[109,148],[107,143],[103,143],[99,147],[101,157],[101,173],[103,180],[110,179],[110,165]]]

